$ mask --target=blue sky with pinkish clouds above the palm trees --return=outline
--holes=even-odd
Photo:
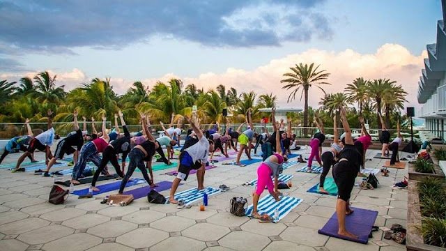
[[[408,91],[406,106],[420,107],[426,44],[442,18],[440,0],[0,0],[0,80],[47,70],[70,90],[110,77],[123,94],[136,81],[178,78],[303,107],[300,96],[287,102],[280,80],[315,63],[330,73],[326,93],[387,78]],[[322,96],[312,88],[309,105]]]

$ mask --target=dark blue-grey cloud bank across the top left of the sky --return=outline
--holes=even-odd
[[[329,39],[330,22],[318,10],[323,2],[4,0],[0,44],[72,53],[83,46],[117,50],[152,36],[229,47]]]

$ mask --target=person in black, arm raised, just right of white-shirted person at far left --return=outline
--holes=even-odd
[[[54,152],[54,157],[49,160],[49,163],[47,165],[47,169],[45,170],[43,176],[49,177],[49,169],[54,165],[56,160],[63,159],[63,155],[72,154],[72,158],[74,163],[77,163],[77,160],[79,158],[79,151],[82,149],[82,146],[84,145],[84,135],[81,129],[79,128],[79,123],[77,122],[77,110],[75,110],[72,113],[73,117],[73,128],[75,129],[75,132],[70,132],[68,136],[65,139],[61,139],[59,143],[57,143],[56,151]],[[76,146],[76,149],[73,148],[73,146]]]

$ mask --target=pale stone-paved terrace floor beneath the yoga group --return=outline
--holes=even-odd
[[[308,156],[306,152],[298,153]],[[367,157],[377,152],[368,151]],[[4,163],[15,162],[18,157],[19,154],[10,154]],[[36,159],[42,160],[42,153],[36,153]],[[380,168],[383,162],[372,158],[367,167]],[[114,192],[92,199],[70,196],[65,204],[56,206],[47,202],[53,178],[0,169],[0,250],[405,250],[404,245],[385,240],[381,230],[374,232],[367,245],[318,234],[318,229],[334,213],[336,198],[306,192],[318,183],[319,176],[295,172],[305,164],[284,170],[294,178],[293,187],[282,192],[303,202],[279,223],[262,224],[231,215],[231,197],[248,197],[252,204],[253,188],[241,184],[256,178],[258,164],[216,165],[217,168],[206,172],[205,185],[218,188],[224,183],[231,190],[209,197],[204,212],[197,205],[178,210],[174,205],[148,204],[145,197],[125,207],[100,204],[105,195]],[[155,172],[156,181],[171,181],[173,177],[164,175],[166,171],[169,169]],[[407,191],[392,190],[392,185],[406,175],[407,167],[390,169],[389,177],[378,176],[378,189],[355,187],[353,206],[378,211],[378,227],[390,227],[393,223],[406,227]],[[134,176],[141,174],[135,172]],[[98,185],[105,182],[112,181]],[[196,176],[192,175],[178,190],[196,185]],[[264,192],[263,196],[267,194]]]

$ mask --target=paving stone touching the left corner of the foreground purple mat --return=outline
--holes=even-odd
[[[318,234],[316,229],[306,227],[288,227],[282,234],[279,235],[284,241],[291,241],[302,245],[311,247],[318,247],[325,245],[328,236]]]

